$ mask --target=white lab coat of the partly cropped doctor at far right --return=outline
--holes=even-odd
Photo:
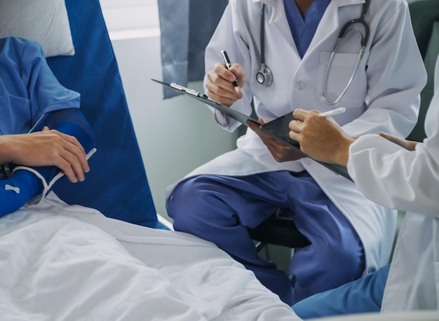
[[[377,135],[360,137],[350,149],[348,170],[360,191],[380,204],[409,211],[381,311],[439,308],[439,58],[435,74],[435,96],[426,115],[428,138],[415,152]]]

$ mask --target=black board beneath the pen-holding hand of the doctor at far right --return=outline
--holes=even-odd
[[[293,121],[294,119],[295,118],[294,116],[292,116],[292,112],[290,112],[279,118],[273,119],[273,121],[269,121],[268,123],[262,124],[260,128],[267,135],[270,135],[274,139],[277,139],[279,142],[283,142],[283,144],[290,146],[292,149],[295,149],[296,151],[299,151],[299,153],[302,153],[302,155],[309,157],[308,155],[306,155],[306,153],[304,153],[300,149],[299,142],[297,142],[297,140],[295,139],[291,139],[290,135],[288,135],[290,132],[290,128],[288,127],[288,124],[290,123],[290,121]],[[324,163],[320,161],[316,161],[316,162],[320,163],[326,168],[329,168],[333,172],[336,172],[337,174],[342,175],[343,177],[353,181],[353,179],[348,173],[348,169],[345,166]]]

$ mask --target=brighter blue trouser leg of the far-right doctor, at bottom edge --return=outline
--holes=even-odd
[[[389,269],[390,265],[384,266],[337,289],[310,296],[296,303],[292,309],[302,319],[379,312]]]

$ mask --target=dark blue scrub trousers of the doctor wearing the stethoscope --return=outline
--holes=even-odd
[[[247,231],[279,208],[292,211],[311,242],[295,251],[290,276],[259,258]],[[356,280],[365,269],[356,231],[307,172],[191,177],[175,187],[167,211],[175,230],[216,243],[290,306]]]

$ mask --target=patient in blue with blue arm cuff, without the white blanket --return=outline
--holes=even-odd
[[[79,111],[79,93],[58,83],[38,43],[0,39],[0,62],[0,164],[11,163],[0,172],[3,216],[43,198],[60,172],[83,181],[94,136]],[[27,134],[31,126],[42,130]]]

